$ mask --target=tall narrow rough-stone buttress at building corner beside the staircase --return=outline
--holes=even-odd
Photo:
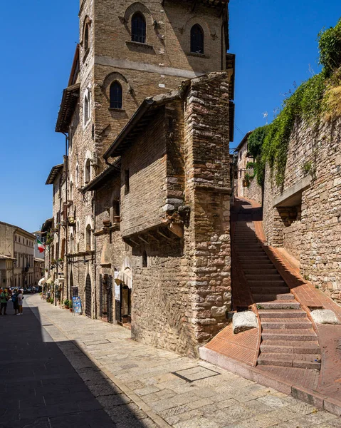
[[[226,325],[231,306],[228,81],[227,73],[195,79],[185,103],[185,203],[192,208],[189,277],[198,343]]]

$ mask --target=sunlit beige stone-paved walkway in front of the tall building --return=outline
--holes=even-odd
[[[117,428],[341,428],[335,415],[206,362],[134,342],[122,327],[72,315],[38,295],[26,301]],[[99,374],[116,385],[120,400],[106,395],[104,383],[97,386]]]

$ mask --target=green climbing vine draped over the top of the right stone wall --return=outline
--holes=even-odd
[[[318,126],[322,116],[341,113],[341,19],[334,28],[322,30],[318,41],[322,71],[290,91],[273,122],[257,128],[248,138],[248,151],[256,159],[254,171],[260,185],[267,162],[276,172],[277,185],[283,184],[290,135],[296,121]]]

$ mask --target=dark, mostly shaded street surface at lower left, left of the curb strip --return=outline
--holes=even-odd
[[[25,306],[18,317],[10,303],[7,315],[0,316],[0,427],[115,428],[40,320]]]

